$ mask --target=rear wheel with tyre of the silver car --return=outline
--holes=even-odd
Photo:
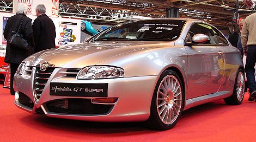
[[[224,101],[228,105],[240,105],[245,96],[245,73],[242,69],[237,70],[233,94]]]

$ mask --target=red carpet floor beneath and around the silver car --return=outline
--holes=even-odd
[[[0,141],[256,141],[256,102],[248,93],[240,106],[223,100],[188,109],[168,131],[139,123],[95,123],[35,115],[14,105],[0,85]]]

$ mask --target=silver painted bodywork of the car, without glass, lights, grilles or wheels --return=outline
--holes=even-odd
[[[48,117],[88,121],[144,121],[149,118],[151,99],[161,73],[174,69],[182,80],[185,107],[188,109],[212,100],[223,99],[233,92],[236,71],[243,67],[239,50],[230,44],[225,46],[184,46],[187,32],[199,20],[186,20],[180,37],[171,42],[160,41],[101,41],[44,50],[24,60],[31,71],[15,74],[15,104],[28,112],[42,108]],[[218,54],[221,52],[221,54]],[[229,60],[231,57],[232,60]],[[218,62],[216,59],[220,59]],[[34,100],[35,66],[48,62],[54,64],[40,100]],[[76,80],[65,76],[67,69],[81,69],[93,65],[111,65],[124,69],[125,78]],[[228,73],[228,74],[225,74]],[[220,77],[217,83],[212,80]],[[50,96],[50,82],[108,83],[108,97],[117,97],[111,112],[106,115],[80,115],[52,113],[45,103],[74,96]],[[224,85],[224,82],[227,85]],[[241,88],[241,87],[240,87]],[[17,100],[19,92],[26,94],[34,103],[27,108]],[[238,96],[237,96],[238,97]],[[91,97],[89,99],[94,99]],[[169,120],[165,121],[167,124]]]

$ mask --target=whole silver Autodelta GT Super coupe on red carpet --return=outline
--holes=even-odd
[[[241,104],[245,79],[239,50],[214,26],[161,18],[118,24],[87,42],[29,56],[14,88],[17,107],[31,113],[167,130],[193,106]]]

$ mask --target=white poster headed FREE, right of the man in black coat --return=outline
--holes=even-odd
[[[72,20],[73,22],[64,22],[65,19],[59,21],[59,27],[56,28],[58,46],[80,43],[81,36],[81,20]],[[77,40],[78,39],[78,40]]]

